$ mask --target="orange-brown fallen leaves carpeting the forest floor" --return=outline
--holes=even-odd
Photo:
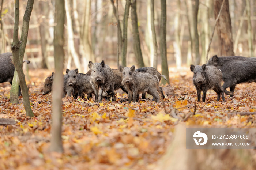
[[[236,86],[234,97],[217,102],[208,91],[206,102],[197,102],[191,72],[170,72],[170,85],[163,87],[167,112],[151,96],[138,103],[120,102],[127,94],[117,93],[116,102],[94,103],[63,98],[62,139],[64,153],[49,153],[52,93],[42,95],[50,71],[29,72],[30,102],[35,117],[26,117],[23,100],[11,104],[10,83],[0,84],[0,118],[15,119],[15,125],[0,125],[0,169],[88,169],[154,170],[172,143],[177,124],[207,128],[256,127],[256,83]],[[184,121],[184,117],[194,112]],[[184,107],[185,106],[185,107]],[[180,108],[181,109],[177,109]]]

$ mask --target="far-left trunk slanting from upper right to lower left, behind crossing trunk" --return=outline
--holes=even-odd
[[[34,0],[27,1],[27,7],[26,7],[26,10],[25,10],[25,13],[23,16],[23,24],[22,24],[22,31],[21,31],[22,33],[21,33],[21,38],[20,38],[21,44],[19,47],[20,63],[22,63],[22,61],[23,61],[24,53],[25,53],[25,49],[26,49],[27,35],[29,32],[29,21],[30,21],[31,12],[33,9],[33,4],[34,4]],[[25,100],[24,95],[26,95],[26,91],[24,91],[24,93],[25,94],[23,94],[23,100]],[[19,97],[19,77],[18,77],[18,73],[15,68],[14,77],[12,80],[12,87],[11,87],[11,91],[10,91],[10,102],[11,103],[19,103],[18,97]]]

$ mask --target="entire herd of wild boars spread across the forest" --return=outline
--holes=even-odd
[[[28,60],[24,62],[30,63]],[[151,94],[156,102],[159,102],[160,96],[165,97],[162,87],[158,85],[162,77],[165,80],[167,78],[153,67],[135,69],[135,66],[125,68],[120,66],[119,69],[111,69],[104,61],[101,63],[90,61],[88,66],[90,70],[86,74],[79,73],[78,69],[66,70],[63,97],[73,95],[75,98],[84,98],[87,94],[87,99],[95,95],[96,102],[101,102],[103,97],[107,101],[115,101],[115,90],[120,88],[128,94],[129,102],[138,101],[140,94],[145,99],[146,93]],[[217,101],[220,97],[222,101],[225,101],[224,93],[233,96],[236,84],[256,82],[256,58],[215,55],[206,64],[191,65],[190,69],[193,72],[197,99],[201,101],[201,91],[203,91],[203,102],[205,102],[207,90],[212,89],[217,92]],[[12,53],[0,54],[0,83],[10,82],[12,84],[14,70]],[[47,94],[52,90],[53,79],[54,72],[45,79],[42,94]],[[221,86],[222,80],[224,83]],[[19,95],[21,95],[20,89]]]

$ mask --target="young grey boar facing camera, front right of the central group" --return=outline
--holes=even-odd
[[[140,93],[147,92],[152,95],[156,102],[159,102],[158,83],[157,76],[152,76],[148,73],[135,72],[135,66],[132,67],[119,67],[123,73],[122,83],[128,91],[128,101],[137,101],[137,96]]]

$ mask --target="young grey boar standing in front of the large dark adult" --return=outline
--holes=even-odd
[[[207,90],[213,89],[217,93],[217,101],[222,98],[225,101],[224,91],[221,86],[221,71],[214,66],[190,65],[190,70],[194,73],[193,84],[197,91],[197,100],[201,101],[201,91],[203,91],[202,101],[205,102]]]

